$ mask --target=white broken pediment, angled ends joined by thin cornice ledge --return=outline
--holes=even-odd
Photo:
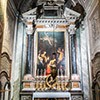
[[[34,20],[36,20],[36,9],[37,8],[34,8],[34,9],[32,9],[32,10],[30,10],[30,11],[28,11],[28,12],[25,12],[25,13],[23,13],[22,15],[23,15],[23,18],[24,18],[24,20],[26,21],[26,22],[32,22],[33,21],[33,19]],[[70,22],[70,23],[72,23],[72,22],[75,22],[76,21],[76,19],[77,18],[79,18],[79,16],[80,16],[80,14],[79,13],[77,13],[77,12],[75,12],[75,11],[73,11],[73,10],[71,10],[71,9],[69,9],[69,8],[65,8],[65,12],[64,12],[64,14],[62,14],[61,16],[60,16],[60,18],[61,18],[61,20],[62,20],[62,18],[64,19],[64,20],[66,20],[67,22]],[[57,19],[57,18],[45,18],[45,20],[55,20],[55,19]],[[40,21],[40,20],[44,20],[43,18],[41,18],[41,19],[38,19],[37,20],[37,22],[38,21]],[[59,18],[58,18],[58,20],[59,20]],[[60,20],[60,21],[61,21]],[[44,22],[42,22],[42,23],[44,23]],[[60,24],[61,24],[61,22],[60,22]]]

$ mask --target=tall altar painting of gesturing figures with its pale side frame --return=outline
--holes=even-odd
[[[65,75],[68,58],[68,39],[64,31],[39,31],[36,34],[35,45],[35,75],[49,75],[51,67],[56,67],[59,76]],[[67,51],[67,52],[66,52]],[[67,63],[67,64],[66,64]],[[68,67],[68,66],[67,66]]]

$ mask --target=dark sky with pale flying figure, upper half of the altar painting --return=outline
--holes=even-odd
[[[38,32],[38,52],[46,51],[49,56],[64,47],[64,32]]]

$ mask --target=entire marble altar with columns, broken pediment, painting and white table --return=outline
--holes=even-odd
[[[83,100],[75,61],[75,21],[80,14],[46,2],[23,14],[27,24],[27,66],[21,100]]]

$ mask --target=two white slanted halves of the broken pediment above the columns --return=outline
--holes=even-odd
[[[29,11],[23,13],[23,17],[27,21],[32,21],[33,19],[36,20],[36,16],[37,16],[36,12],[37,12],[37,8],[34,8],[32,10],[29,10]],[[64,10],[64,13],[61,16],[59,16],[58,18],[65,19],[69,23],[74,23],[76,21],[76,19],[79,18],[79,16],[80,16],[80,14],[78,12],[73,11],[73,10],[66,7]],[[45,18],[46,17],[42,16],[42,20]],[[51,17],[51,19],[58,19],[58,18]],[[50,19],[50,18],[47,17],[47,19]]]

